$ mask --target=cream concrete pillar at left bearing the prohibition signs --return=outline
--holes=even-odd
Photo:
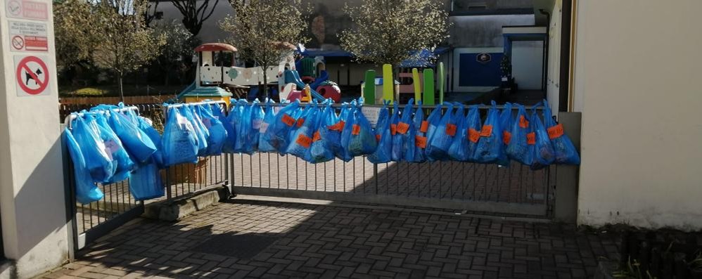
[[[53,15],[49,0],[0,6],[0,278],[68,259]]]

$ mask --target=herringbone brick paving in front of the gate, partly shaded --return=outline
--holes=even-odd
[[[136,219],[43,278],[592,278],[617,251],[555,223],[234,200]]]

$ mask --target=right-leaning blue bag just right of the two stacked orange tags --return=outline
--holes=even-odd
[[[447,104],[445,114],[441,117],[435,131],[433,131],[433,135],[429,141],[429,147],[426,150],[426,155],[430,160],[439,161],[449,159],[448,152],[457,134],[458,126],[456,125],[456,120],[459,119],[457,118],[457,114],[453,113],[453,108],[454,105],[452,103]],[[461,114],[462,112],[463,110],[461,110]]]

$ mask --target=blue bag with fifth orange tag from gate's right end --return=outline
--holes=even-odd
[[[480,128],[478,145],[474,153],[476,162],[492,164],[506,157],[502,141],[502,126],[500,126],[499,110],[497,103],[492,101],[492,107],[487,110],[487,118]]]

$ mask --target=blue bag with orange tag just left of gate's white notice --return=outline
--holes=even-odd
[[[362,98],[359,98],[358,103],[362,105]],[[371,122],[366,119],[366,116],[361,111],[361,105],[353,112],[353,123],[351,124],[348,144],[348,150],[352,157],[370,155],[378,147]]]

